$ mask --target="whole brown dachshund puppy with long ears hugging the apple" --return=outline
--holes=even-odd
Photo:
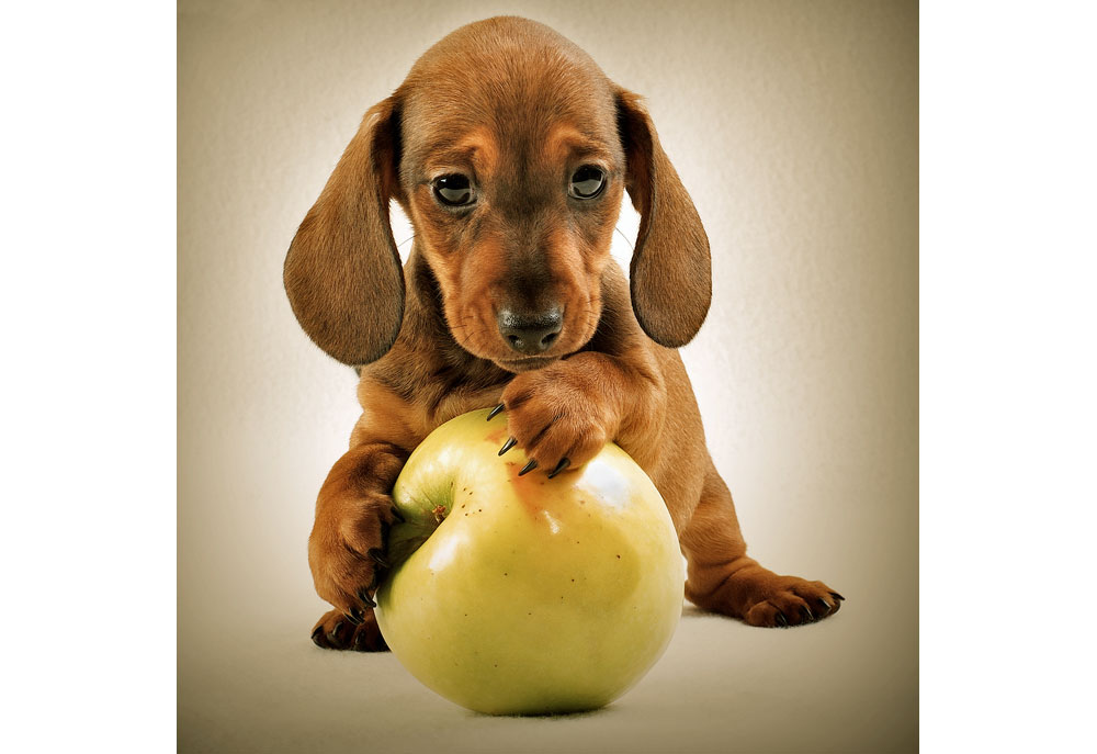
[[[624,191],[642,218],[631,284],[610,258]],[[416,229],[403,269],[391,200]],[[362,368],[362,417],[308,543],[336,608],[320,646],[385,649],[372,595],[393,483],[432,429],[499,403],[532,473],[566,473],[609,440],[632,454],[666,499],[698,606],[753,626],[839,608],[825,584],[746,556],[672,350],[709,308],[701,221],[638,98],[546,26],[489,19],[431,47],[366,113],[285,286],[309,337]]]

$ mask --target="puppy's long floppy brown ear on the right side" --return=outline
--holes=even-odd
[[[709,313],[709,238],[640,97],[624,89],[615,94],[625,188],[640,213],[630,266],[632,308],[652,340],[677,348],[692,340]]]

